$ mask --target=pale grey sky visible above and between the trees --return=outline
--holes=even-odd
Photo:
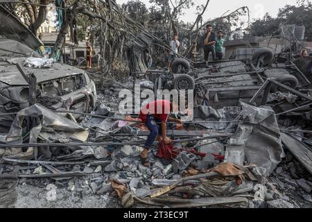
[[[117,3],[126,3],[129,0],[116,0]],[[146,6],[151,6],[148,0],[141,0]],[[205,4],[206,0],[194,0],[197,5]],[[311,0],[312,1],[312,0]],[[203,15],[204,21],[207,19],[213,19],[223,15],[227,10],[235,10],[241,6],[248,6],[250,9],[251,19],[257,19],[263,17],[266,12],[276,17],[279,8],[288,5],[295,5],[297,0],[210,0],[208,8]],[[175,3],[175,0],[173,0]],[[181,17],[184,22],[195,22],[196,20],[196,7],[188,10],[185,15]]]

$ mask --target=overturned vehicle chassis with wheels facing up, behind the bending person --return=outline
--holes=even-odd
[[[261,49],[252,59],[197,62],[192,67],[187,60],[177,59],[172,72],[147,71],[146,78],[153,81],[155,90],[194,89],[197,105],[207,101],[215,108],[238,105],[240,99],[250,101],[268,78],[293,89],[311,84],[294,64],[272,64],[272,58],[270,49]],[[270,92],[279,91],[284,89],[272,84]],[[261,103],[261,96],[257,102]]]

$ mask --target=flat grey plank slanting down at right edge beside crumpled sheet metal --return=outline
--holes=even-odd
[[[301,162],[304,168],[312,174],[312,151],[308,146],[286,133],[281,133],[281,142]]]

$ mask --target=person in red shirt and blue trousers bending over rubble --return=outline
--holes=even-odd
[[[171,139],[167,137],[167,121],[173,121],[176,123],[182,123],[180,119],[173,119],[169,116],[169,113],[173,110],[173,103],[166,100],[156,100],[146,104],[144,108],[141,108],[141,112],[139,114],[139,118],[144,121],[148,129],[150,130],[150,135],[146,139],[146,143],[144,145],[144,150],[141,152],[141,160],[142,164],[145,167],[148,167],[150,164],[148,163],[148,150],[150,146],[153,145],[156,137],[157,140],[163,140],[165,144],[171,144]],[[156,122],[160,122],[160,128]]]

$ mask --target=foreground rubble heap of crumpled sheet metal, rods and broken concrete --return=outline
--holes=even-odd
[[[168,130],[177,156],[157,157],[155,144],[149,153],[151,166],[144,167],[139,153],[148,131],[140,123],[120,120],[106,105],[114,103],[112,96],[105,95],[99,94],[91,113],[97,116],[80,123],[38,104],[21,110],[10,133],[1,135],[6,155],[0,175],[15,172],[12,186],[20,189],[42,187],[49,195],[55,191],[56,198],[46,197],[49,203],[96,197],[101,203],[96,207],[311,207],[311,172],[287,146],[302,142],[290,131],[280,132],[270,107],[241,103],[219,110],[196,108],[195,119],[207,123]],[[117,92],[114,96],[118,100]],[[225,110],[232,116],[225,117]],[[241,121],[232,123],[239,115]],[[25,137],[20,123],[26,117],[37,118],[39,124],[29,131],[33,147],[25,149],[15,146]]]

